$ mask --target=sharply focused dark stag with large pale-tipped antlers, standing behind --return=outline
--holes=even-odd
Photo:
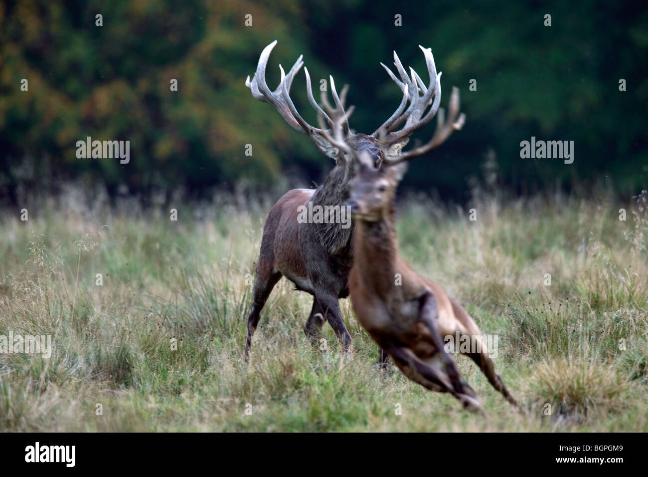
[[[348,87],[345,86],[338,96],[333,78],[329,77],[335,108],[330,106],[325,92],[322,92],[321,101],[327,110],[325,112],[313,97],[310,75],[308,75],[308,69],[304,68],[308,102],[316,110],[318,119],[321,119],[320,127],[313,127],[297,112],[292,99],[290,99],[290,86],[295,75],[303,66],[303,56],[297,58],[287,75],[279,65],[281,82],[274,91],[270,91],[266,84],[268,58],[276,44],[275,40],[262,51],[257,71],[252,80],[248,76],[246,86],[250,88],[255,99],[272,104],[288,125],[307,134],[321,153],[335,160],[335,167],[316,190],[295,189],[286,192],[266,217],[255,273],[252,306],[248,315],[246,359],[249,356],[252,336],[259,324],[260,312],[281,276],[292,281],[297,290],[307,291],[314,297],[312,310],[304,327],[304,331],[311,341],[317,341],[319,331],[326,320],[336,332],[345,349],[349,349],[351,335],[343,322],[338,300],[349,295],[349,271],[353,265],[351,238],[354,225],[349,223],[351,226],[345,228],[345,224],[340,221],[332,223],[331,221],[328,221],[329,223],[314,223],[314,220],[313,223],[300,221],[299,211],[303,206],[308,206],[309,202],[313,208],[315,206],[341,207],[343,202],[349,198],[349,181],[354,175],[354,162],[357,153],[362,151],[375,167],[380,167],[385,158],[397,156],[400,153],[402,147],[408,142],[410,134],[432,119],[434,114],[430,114],[430,112],[423,116],[426,108],[432,104],[430,111],[435,111],[441,101],[441,87],[439,86],[441,73],[437,75],[432,51],[429,48],[420,47],[430,75],[428,86],[411,68],[408,76],[399,57],[394,52],[394,65],[401,80],[397,79],[387,66],[382,63],[381,65],[403,93],[400,105],[389,119],[370,136],[360,133],[353,134],[347,120],[351,108],[348,112],[344,110]],[[405,109],[408,102],[410,104]],[[329,140],[329,132],[333,128],[331,117],[340,119],[339,140],[343,143],[343,148],[332,144]],[[395,130],[400,125],[402,127]],[[387,356],[381,352],[379,361],[384,362],[386,359]]]

